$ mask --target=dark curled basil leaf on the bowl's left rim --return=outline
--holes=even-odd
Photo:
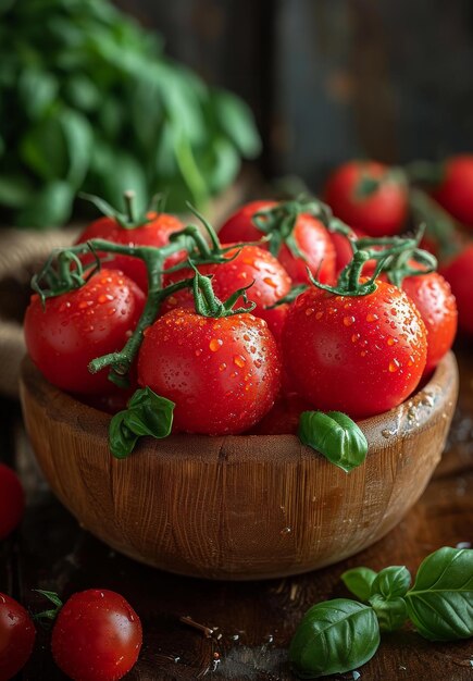
[[[124,459],[132,454],[138,437],[167,437],[173,425],[175,404],[160,397],[150,387],[135,392],[127,409],[110,421],[109,446],[113,456]]]

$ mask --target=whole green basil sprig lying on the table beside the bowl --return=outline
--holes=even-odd
[[[375,572],[361,567],[341,575],[359,598],[319,603],[303,616],[289,647],[302,679],[351,671],[375,654],[379,631],[410,619],[430,641],[473,636],[473,549],[444,547],[421,564],[411,589],[404,566]]]

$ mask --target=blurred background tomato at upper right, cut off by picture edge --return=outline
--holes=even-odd
[[[463,153],[443,164],[443,179],[433,197],[456,220],[473,227],[473,154]]]

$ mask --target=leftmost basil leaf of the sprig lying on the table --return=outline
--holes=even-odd
[[[316,679],[361,667],[379,645],[379,626],[369,606],[336,598],[303,616],[289,646],[289,659],[302,679]]]

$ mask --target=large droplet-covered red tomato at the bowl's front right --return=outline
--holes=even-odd
[[[373,294],[337,296],[311,287],[283,332],[287,370],[312,407],[363,419],[415,389],[427,355],[422,319],[408,296],[377,281]]]

